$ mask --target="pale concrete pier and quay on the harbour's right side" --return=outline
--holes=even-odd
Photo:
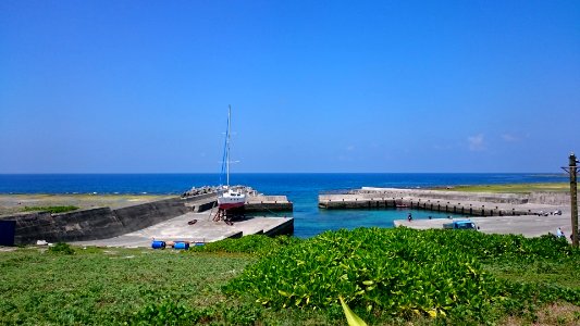
[[[571,233],[569,193],[489,193],[421,189],[370,188],[319,196],[322,209],[409,208],[447,213],[452,218],[399,220],[395,226],[443,228],[453,220],[470,218],[480,231],[539,237],[560,227]],[[562,215],[554,212],[562,212]],[[455,217],[455,218],[453,218]]]

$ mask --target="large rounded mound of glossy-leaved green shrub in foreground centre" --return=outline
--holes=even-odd
[[[263,305],[324,309],[340,296],[353,306],[394,315],[445,315],[468,304],[485,310],[498,283],[474,258],[432,246],[410,229],[324,233],[280,249],[224,288]]]

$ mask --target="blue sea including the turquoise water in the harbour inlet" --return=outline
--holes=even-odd
[[[318,195],[360,187],[425,188],[457,185],[566,181],[565,175],[535,174],[232,174],[232,185],[246,185],[264,195],[282,195],[294,202],[293,213],[269,213],[295,218],[294,235],[312,237],[325,230],[355,227],[393,227],[393,221],[445,217],[416,210],[318,209]],[[0,193],[151,193],[181,195],[192,187],[220,184],[219,174],[0,174]]]

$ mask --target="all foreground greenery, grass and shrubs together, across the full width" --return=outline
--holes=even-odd
[[[579,259],[547,236],[405,228],[30,247],[0,253],[0,324],[344,325],[342,297],[369,325],[578,325]]]

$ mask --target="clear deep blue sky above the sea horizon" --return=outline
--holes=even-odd
[[[0,173],[559,172],[580,1],[0,1]]]

